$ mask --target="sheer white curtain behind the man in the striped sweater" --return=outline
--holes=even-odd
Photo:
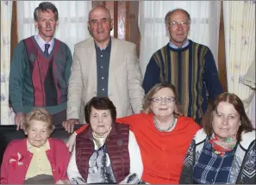
[[[140,67],[145,73],[147,63],[169,41],[165,15],[176,8],[185,9],[191,18],[189,39],[209,46],[217,65],[221,1],[140,1]]]

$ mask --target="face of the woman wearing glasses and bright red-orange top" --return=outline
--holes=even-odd
[[[170,88],[160,89],[153,95],[150,108],[155,116],[165,117],[174,113],[175,96]]]

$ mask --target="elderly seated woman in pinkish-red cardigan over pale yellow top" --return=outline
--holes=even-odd
[[[1,184],[69,184],[66,169],[69,151],[53,133],[52,116],[43,108],[26,115],[27,139],[9,143],[3,155]]]

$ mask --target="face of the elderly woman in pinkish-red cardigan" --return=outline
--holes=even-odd
[[[26,134],[29,144],[35,147],[45,145],[50,135],[47,123],[41,120],[30,120]]]

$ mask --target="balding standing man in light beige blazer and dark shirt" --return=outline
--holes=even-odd
[[[117,117],[123,117],[140,113],[145,95],[136,46],[110,36],[113,20],[109,9],[91,9],[88,28],[92,38],[76,44],[73,54],[63,123],[69,133],[74,124],[84,122],[84,105],[93,96],[108,96]]]

